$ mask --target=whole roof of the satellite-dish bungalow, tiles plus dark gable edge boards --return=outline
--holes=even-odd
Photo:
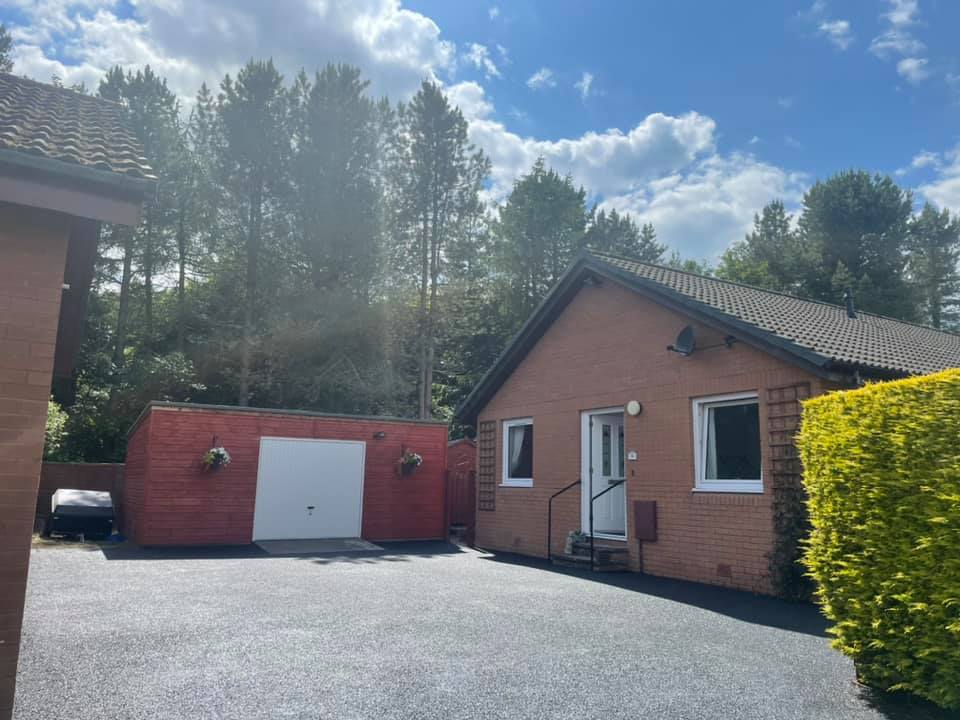
[[[587,278],[607,278],[818,375],[894,378],[960,367],[960,335],[785,293],[584,251],[457,410],[471,421]],[[678,328],[679,330],[680,328]]]

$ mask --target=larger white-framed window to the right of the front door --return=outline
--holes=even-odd
[[[756,393],[694,400],[693,439],[696,490],[763,492]]]

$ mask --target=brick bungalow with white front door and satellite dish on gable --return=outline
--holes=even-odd
[[[597,559],[772,593],[798,401],[958,366],[960,336],[852,300],[584,252],[458,410],[478,430],[476,542],[546,557],[555,496],[554,556],[592,524]]]

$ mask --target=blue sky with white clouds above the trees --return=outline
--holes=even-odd
[[[352,62],[394,98],[435,79],[491,156],[492,203],[542,154],[690,256],[849,167],[960,209],[947,0],[0,0],[0,18],[17,72],[95,86],[149,63],[185,107],[251,55]]]

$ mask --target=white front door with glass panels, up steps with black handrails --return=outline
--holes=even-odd
[[[590,500],[593,501],[593,532],[603,537],[624,537],[627,532],[624,478],[623,411],[596,410],[581,417],[581,530],[590,532]],[[610,492],[597,495],[616,485]]]

